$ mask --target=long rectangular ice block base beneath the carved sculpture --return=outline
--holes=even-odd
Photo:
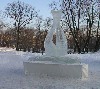
[[[26,61],[24,70],[26,75],[35,74],[51,77],[65,77],[74,79],[85,79],[88,77],[87,64],[62,64],[51,61]]]

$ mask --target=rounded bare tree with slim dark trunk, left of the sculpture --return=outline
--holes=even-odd
[[[16,28],[16,50],[19,50],[19,38],[20,30],[37,16],[37,12],[32,6],[25,4],[24,2],[17,1],[9,3],[5,9],[5,13],[8,17],[14,20],[14,27]]]

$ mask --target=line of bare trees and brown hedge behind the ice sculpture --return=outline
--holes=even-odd
[[[69,49],[73,49],[74,52],[78,53],[96,52],[100,49],[99,0],[54,1],[49,6],[54,10],[62,9],[61,27],[67,33],[66,40],[68,40]],[[14,44],[17,51],[33,50],[33,52],[40,52],[45,50],[44,40],[52,24],[50,17],[43,20],[38,15],[38,11],[21,1],[9,3],[4,13],[13,22],[12,28],[9,28],[10,31],[0,34],[0,46],[9,43],[9,45]],[[36,28],[30,29],[29,25],[33,20],[36,21]],[[0,23],[0,28],[2,28],[2,25]],[[56,41],[55,35],[54,43]],[[8,42],[8,40],[10,41]]]

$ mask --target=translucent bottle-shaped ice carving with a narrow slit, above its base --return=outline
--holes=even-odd
[[[53,25],[45,39],[45,53],[47,56],[64,56],[67,53],[67,39],[60,26],[61,10],[51,11]],[[56,31],[56,44],[53,43],[53,34]]]

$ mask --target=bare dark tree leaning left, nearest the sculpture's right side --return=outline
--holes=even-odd
[[[78,32],[79,32],[79,23],[80,23],[80,10],[81,10],[81,0],[63,0],[62,11],[64,13],[65,22],[68,24],[68,27],[72,33],[75,50],[78,50],[78,53],[81,52],[78,41]]]

